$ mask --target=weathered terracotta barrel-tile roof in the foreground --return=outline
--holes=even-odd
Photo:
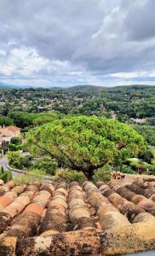
[[[155,182],[0,182],[0,255],[123,255],[155,249]]]

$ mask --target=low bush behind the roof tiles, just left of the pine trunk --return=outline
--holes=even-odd
[[[67,183],[77,181],[79,184],[82,184],[84,181],[87,180],[87,177],[83,174],[83,172],[77,172],[66,168],[57,171],[55,177],[52,180],[65,181]]]

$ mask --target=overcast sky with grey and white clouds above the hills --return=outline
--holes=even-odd
[[[155,84],[155,0],[0,0],[0,82]]]

